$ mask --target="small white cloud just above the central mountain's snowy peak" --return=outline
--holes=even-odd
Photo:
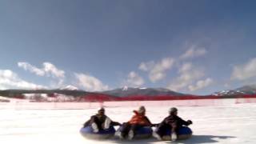
[[[128,86],[142,86],[144,84],[144,80],[134,71],[131,71],[128,74],[128,79],[126,80],[126,84]]]

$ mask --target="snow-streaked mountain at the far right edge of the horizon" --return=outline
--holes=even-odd
[[[214,93],[215,96],[236,96],[256,94],[256,85],[242,86],[234,90],[222,90]]]

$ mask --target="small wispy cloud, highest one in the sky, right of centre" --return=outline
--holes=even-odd
[[[207,53],[205,48],[197,48],[195,45],[191,46],[189,50],[186,50],[184,54],[181,55],[181,59],[196,58]]]

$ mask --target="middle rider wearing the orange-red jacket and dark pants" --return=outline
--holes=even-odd
[[[136,130],[143,126],[155,126],[150,122],[150,119],[146,117],[146,109],[144,106],[140,106],[138,110],[134,110],[134,116],[130,121],[123,123],[122,128],[118,131],[119,138],[133,139],[136,134]]]

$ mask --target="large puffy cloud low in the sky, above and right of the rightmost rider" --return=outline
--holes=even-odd
[[[178,78],[174,79],[167,88],[170,90],[182,90],[191,85],[194,81],[202,78],[205,74],[202,69],[195,67],[192,63],[184,63],[178,70]]]

